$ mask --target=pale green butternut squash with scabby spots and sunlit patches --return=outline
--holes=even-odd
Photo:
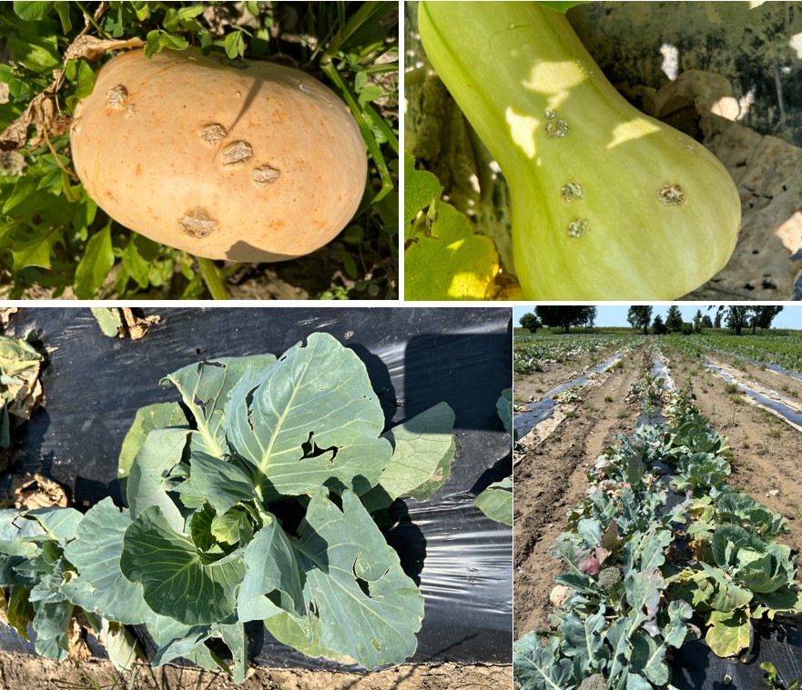
[[[693,139],[628,104],[564,15],[421,2],[431,65],[501,166],[530,299],[671,300],[724,267],[736,185]]]

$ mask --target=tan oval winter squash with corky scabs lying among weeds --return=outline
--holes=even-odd
[[[359,128],[326,86],[196,49],[114,57],[76,108],[71,142],[108,215],[211,259],[309,254],[348,223],[367,175]]]

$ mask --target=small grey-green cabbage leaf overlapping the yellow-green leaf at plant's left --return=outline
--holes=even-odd
[[[156,505],[161,519],[177,530],[183,528],[184,518],[167,493],[165,477],[181,462],[188,433],[187,429],[156,429],[147,435],[128,474],[126,498],[132,517]]]

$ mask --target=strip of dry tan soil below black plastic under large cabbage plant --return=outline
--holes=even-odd
[[[117,684],[117,685],[116,685]],[[228,682],[218,672],[200,671],[175,665],[137,667],[136,690],[485,690],[510,688],[512,665],[401,665],[371,674],[286,668],[258,668],[241,685]],[[41,688],[127,687],[107,661],[90,659],[79,663],[54,661],[36,656],[0,653],[0,690],[41,690]]]

